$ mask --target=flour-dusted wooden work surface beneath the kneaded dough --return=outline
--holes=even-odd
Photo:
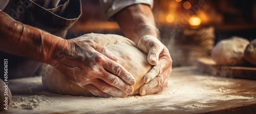
[[[126,98],[49,93],[41,77],[9,81],[12,107],[0,113],[255,113],[256,80],[207,76],[195,67],[174,68],[163,92]],[[25,104],[22,104],[25,102]],[[27,103],[27,104],[26,104]]]

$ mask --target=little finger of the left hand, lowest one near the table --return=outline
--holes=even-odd
[[[90,93],[92,93],[95,96],[99,96],[99,97],[111,97],[111,95],[106,94],[102,91],[100,91],[98,88],[96,88],[95,86],[93,86],[93,84],[85,84],[83,86],[84,89],[88,90]]]

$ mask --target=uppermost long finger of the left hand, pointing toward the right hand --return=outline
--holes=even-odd
[[[134,84],[136,83],[134,76],[130,72],[125,70],[120,64],[113,61],[105,60],[105,62],[102,63],[102,66],[105,70],[120,77],[123,81],[130,84],[131,86],[134,86]]]

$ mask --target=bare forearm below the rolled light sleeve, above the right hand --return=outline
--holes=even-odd
[[[114,15],[124,35],[138,44],[144,35],[158,38],[154,15],[150,6],[136,4]]]

